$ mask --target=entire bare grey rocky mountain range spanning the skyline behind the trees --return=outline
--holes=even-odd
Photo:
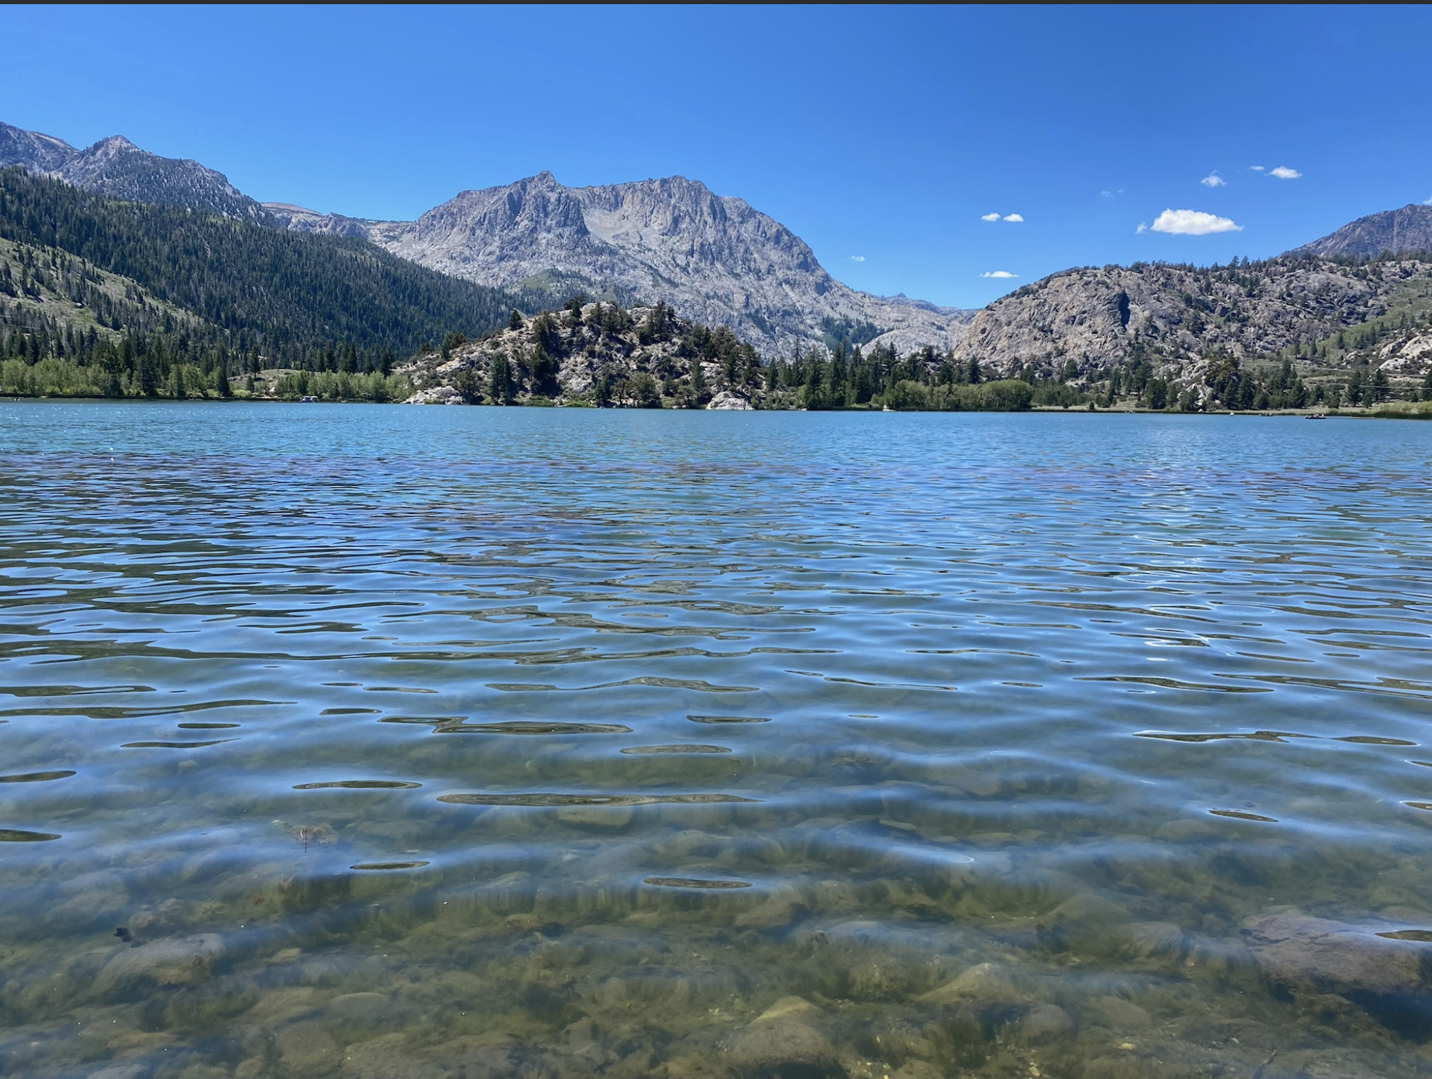
[[[783,225],[682,176],[567,187],[543,172],[461,192],[415,222],[384,222],[259,205],[198,162],[159,157],[119,136],[80,150],[0,125],[0,167],[13,165],[117,199],[365,238],[442,273],[521,286],[528,295],[546,290],[553,303],[577,290],[623,302],[664,301],[684,319],[730,326],[768,355],[851,338],[866,351],[889,345],[908,353],[931,345],[1005,374],[1032,365],[1053,375],[1071,361],[1081,372],[1103,371],[1136,351],[1181,368],[1219,349],[1256,358],[1393,312],[1411,319],[1408,341],[1422,341],[1416,333],[1428,263],[1337,263],[1345,256],[1432,250],[1432,206],[1409,205],[1359,218],[1252,266],[1065,270],[968,312],[851,289]],[[1342,346],[1335,352],[1346,353]]]

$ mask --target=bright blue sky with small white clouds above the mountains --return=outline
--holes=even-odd
[[[77,146],[126,135],[258,199],[367,218],[543,169],[569,185],[679,173],[770,213],[856,288],[955,306],[1074,265],[1274,255],[1432,197],[1428,7],[0,21],[0,120]],[[984,276],[1000,272],[1017,276]]]

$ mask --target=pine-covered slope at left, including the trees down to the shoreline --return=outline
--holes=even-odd
[[[226,378],[282,368],[387,399],[398,356],[478,335],[517,302],[361,239],[0,172],[0,356],[26,368],[7,363],[4,392],[225,396]]]

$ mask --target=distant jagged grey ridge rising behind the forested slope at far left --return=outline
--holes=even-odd
[[[155,202],[271,223],[268,212],[223,173],[199,162],[140,150],[119,135],[77,150],[52,135],[0,123],[0,167],[16,165],[126,202]]]

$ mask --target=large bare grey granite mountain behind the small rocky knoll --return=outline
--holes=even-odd
[[[550,282],[554,299],[577,289],[627,302],[660,299],[682,318],[730,326],[775,355],[843,336],[901,351],[945,349],[972,313],[856,292],[779,222],[680,176],[566,187],[544,172],[463,192],[415,222],[269,209],[291,229],[362,229],[395,255],[483,285]]]

